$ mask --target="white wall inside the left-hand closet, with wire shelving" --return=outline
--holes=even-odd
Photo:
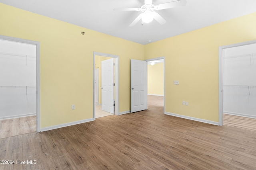
[[[36,45],[0,39],[0,119],[36,113]]]

